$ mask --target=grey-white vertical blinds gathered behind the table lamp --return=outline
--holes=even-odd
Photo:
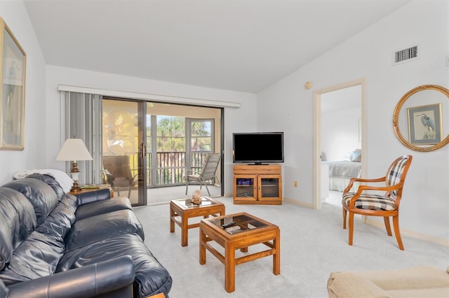
[[[102,96],[63,92],[65,97],[65,139],[82,139],[93,160],[77,161],[79,185],[100,184],[102,179]],[[67,162],[66,169],[71,169]]]

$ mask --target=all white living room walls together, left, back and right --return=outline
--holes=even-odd
[[[0,183],[22,169],[63,168],[54,161],[61,141],[58,84],[62,84],[240,102],[241,108],[225,109],[225,192],[232,193],[232,132],[243,128],[283,131],[284,197],[311,205],[312,92],[365,78],[368,176],[384,173],[398,155],[412,154],[401,204],[401,227],[449,238],[449,147],[434,152],[408,150],[398,142],[391,125],[394,107],[405,92],[429,83],[448,87],[449,71],[444,64],[449,52],[446,0],[413,1],[257,94],[257,108],[254,94],[45,66],[22,1],[0,1],[0,15],[27,52],[25,150],[0,151]],[[422,50],[419,60],[391,66],[393,50],[415,44]],[[305,90],[304,83],[309,80],[314,87]],[[448,115],[443,117],[449,119]],[[293,187],[293,180],[298,181],[298,187]]]

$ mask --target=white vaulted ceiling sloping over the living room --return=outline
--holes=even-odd
[[[257,93],[409,0],[25,0],[47,64]]]

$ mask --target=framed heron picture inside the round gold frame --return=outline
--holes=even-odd
[[[441,103],[407,108],[407,115],[408,139],[411,144],[434,145],[441,142]]]

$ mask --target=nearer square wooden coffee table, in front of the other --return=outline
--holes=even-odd
[[[273,255],[273,274],[281,273],[281,232],[279,227],[248,213],[235,213],[203,219],[199,223],[199,263],[206,264],[206,249],[225,264],[225,290],[235,290],[235,267],[245,262]],[[225,248],[225,255],[208,243],[215,241]],[[248,253],[248,246],[263,243],[268,250],[236,258],[236,250]]]

